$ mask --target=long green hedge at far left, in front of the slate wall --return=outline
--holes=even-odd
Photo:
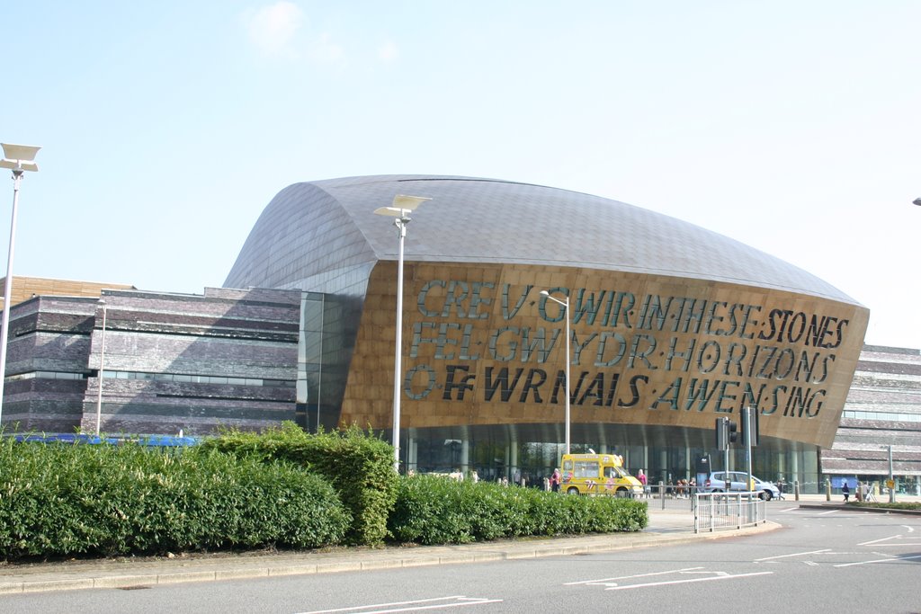
[[[0,442],[0,557],[316,548],[351,518],[325,481],[196,448]]]

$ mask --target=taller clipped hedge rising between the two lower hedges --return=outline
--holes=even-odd
[[[308,434],[288,422],[262,434],[227,431],[202,446],[240,458],[285,460],[321,475],[352,514],[346,541],[378,545],[387,537],[398,479],[393,447],[361,429]]]

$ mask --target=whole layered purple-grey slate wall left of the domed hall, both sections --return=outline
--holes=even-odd
[[[305,421],[296,404],[300,292],[106,290],[102,299],[104,353],[98,299],[39,296],[13,308],[5,425],[93,433],[98,411],[109,434]]]

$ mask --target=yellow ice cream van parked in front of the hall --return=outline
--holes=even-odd
[[[560,490],[568,494],[643,494],[643,485],[624,471],[624,457],[616,454],[564,454]]]

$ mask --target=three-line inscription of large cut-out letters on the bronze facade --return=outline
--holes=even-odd
[[[732,413],[755,404],[763,415],[780,411],[814,418],[827,393],[822,384],[834,349],[849,323],[687,296],[554,291],[574,297],[571,399],[576,406]],[[541,323],[516,326],[522,307],[534,306],[533,295],[531,285],[424,284],[417,295],[423,319],[413,324],[408,355],[414,365],[405,377],[406,396],[559,404],[565,370],[551,365],[560,362],[565,333],[558,323],[565,313],[538,295]],[[480,359],[507,365],[485,366],[478,377]],[[648,389],[652,371],[671,374],[667,388]]]

